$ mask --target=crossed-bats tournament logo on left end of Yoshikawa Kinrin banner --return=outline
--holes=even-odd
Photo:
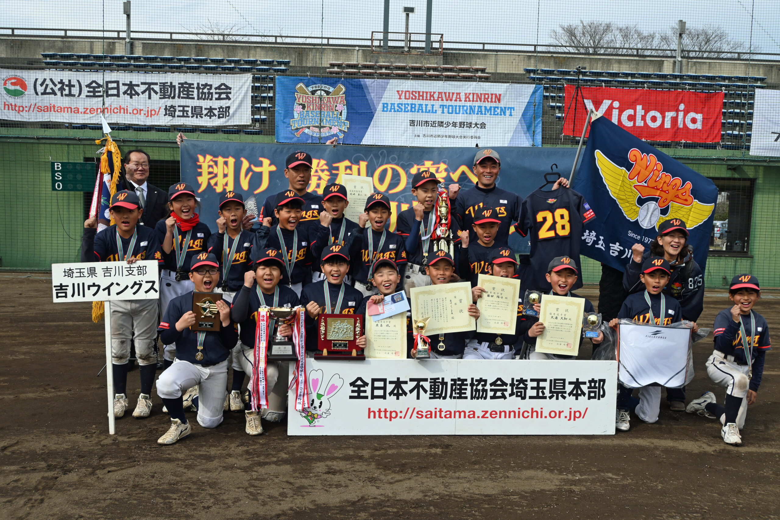
[[[296,137],[307,133],[314,137],[339,136],[349,129],[346,119],[346,94],[342,84],[312,85],[298,83],[295,87],[295,117],[290,119],[290,129]]]

